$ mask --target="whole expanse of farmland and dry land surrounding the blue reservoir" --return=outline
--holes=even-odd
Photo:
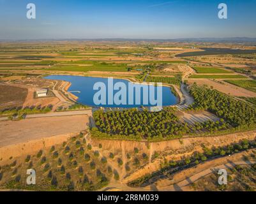
[[[209,55],[216,47],[222,53]],[[212,191],[246,190],[236,173],[233,187],[220,188],[209,170],[232,161],[230,169],[253,171],[255,49],[169,41],[1,42],[0,188],[204,191],[209,183]],[[79,101],[91,92],[45,78],[51,75],[162,82],[177,104],[160,112],[89,106]],[[38,97],[40,90],[47,94]],[[38,172],[38,186],[26,185],[26,168]]]

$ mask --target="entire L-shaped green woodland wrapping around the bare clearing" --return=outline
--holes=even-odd
[[[93,114],[96,128],[92,129],[92,135],[112,139],[163,140],[185,134],[203,136],[255,128],[255,106],[204,86],[193,85],[190,93],[195,98],[195,103],[190,106],[191,110],[208,110],[220,120],[189,125],[179,121],[174,108],[164,108],[161,112],[141,112],[137,109],[120,112],[98,110]]]

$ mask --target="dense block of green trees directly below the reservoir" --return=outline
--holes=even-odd
[[[181,124],[168,108],[162,112],[140,112],[137,109],[122,112],[103,112],[93,114],[97,128],[109,135],[140,136],[140,138],[173,138],[188,133],[189,128]]]

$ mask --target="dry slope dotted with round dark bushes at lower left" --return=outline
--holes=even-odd
[[[26,147],[24,147],[26,148]],[[38,150],[26,156],[10,157],[0,168],[3,189],[37,191],[91,191],[118,181],[124,172],[147,163],[148,156],[139,149],[121,157],[122,149],[112,152],[103,144],[91,145],[84,134],[73,136],[60,145]],[[123,158],[126,157],[124,160]],[[27,186],[26,170],[36,170],[36,186]]]

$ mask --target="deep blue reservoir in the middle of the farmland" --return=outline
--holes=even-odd
[[[116,105],[114,103],[114,105],[109,105],[107,103],[107,105],[95,105],[94,103],[94,95],[98,92],[98,90],[93,90],[93,87],[96,83],[98,82],[102,82],[103,84],[105,84],[106,88],[107,88],[107,92],[109,91],[109,87],[108,87],[108,78],[99,78],[99,77],[82,77],[82,76],[72,76],[72,75],[50,75],[47,77],[44,77],[45,79],[49,79],[49,80],[63,80],[66,82],[71,82],[72,85],[70,86],[70,88],[68,89],[69,92],[72,92],[72,94],[74,94],[75,96],[78,97],[77,102],[81,103],[83,105],[87,105],[87,106],[102,106],[105,108],[139,108],[140,106],[143,105],[143,89],[140,89],[140,104],[137,105],[135,103],[135,91],[134,91],[134,95],[133,95],[133,105],[128,105],[128,91],[127,96],[126,96],[126,100],[127,103],[126,105]],[[116,84],[117,82],[123,82],[126,87],[128,87],[128,84],[130,83],[128,80],[123,80],[123,79],[117,79],[114,78],[113,80],[114,84]],[[133,84],[135,87],[138,86],[146,86],[149,88],[150,85],[141,85],[141,84]],[[151,89],[153,88],[153,86],[151,86]],[[157,99],[157,88],[154,87],[154,99]],[[135,89],[134,89],[135,90]],[[117,91],[113,91],[113,94],[116,94]],[[172,93],[172,91],[170,90],[170,87],[162,87],[162,103],[163,106],[171,106],[171,105],[176,105],[179,102],[179,99],[174,96],[174,94]],[[108,99],[108,96],[107,96]],[[150,101],[150,100],[149,100]],[[148,105],[143,105],[143,106],[156,106],[156,105],[151,105],[150,102]]]

